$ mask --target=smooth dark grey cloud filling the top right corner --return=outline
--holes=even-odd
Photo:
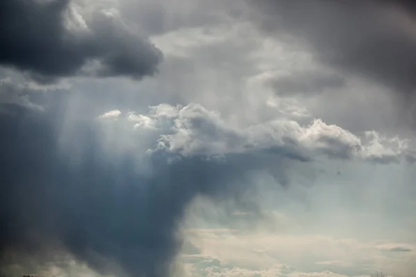
[[[411,1],[252,0],[263,30],[304,39],[336,69],[404,93],[416,88],[416,33]],[[302,83],[302,81],[301,81]]]

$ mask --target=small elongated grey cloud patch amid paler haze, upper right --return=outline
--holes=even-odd
[[[344,78],[338,75],[318,71],[291,73],[270,80],[270,85],[279,96],[313,96],[325,89],[343,87]]]

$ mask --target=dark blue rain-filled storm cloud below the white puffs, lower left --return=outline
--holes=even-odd
[[[131,276],[168,276],[180,249],[177,225],[193,197],[243,199],[250,172],[276,161],[252,153],[171,163],[160,150],[149,157],[145,174],[137,170],[139,153],[107,152],[91,121],[65,127],[80,149],[73,157],[60,145],[60,114],[9,108],[0,116],[2,265],[23,261],[8,253],[38,258],[63,245],[97,271],[115,270],[108,264],[113,260]]]

